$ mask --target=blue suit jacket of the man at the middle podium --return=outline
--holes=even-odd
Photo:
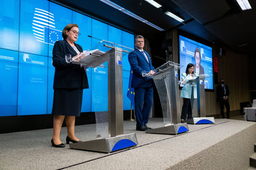
[[[141,53],[137,48],[135,48],[135,50],[128,55],[128,60],[131,65],[133,75],[132,87],[152,87],[153,85],[152,78],[143,77],[141,74],[142,71],[149,72],[150,70],[154,70],[154,66],[152,66],[152,61],[148,53],[145,53],[148,57],[149,63],[147,62],[147,59],[145,59],[143,53]]]

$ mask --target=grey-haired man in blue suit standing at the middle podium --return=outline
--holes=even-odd
[[[143,36],[136,36],[135,49],[128,55],[132,68],[132,87],[134,87],[134,103],[136,115],[136,130],[146,131],[151,129],[147,126],[150,110],[153,103],[153,80],[143,77],[142,73],[155,74],[152,61],[147,52],[143,50]]]

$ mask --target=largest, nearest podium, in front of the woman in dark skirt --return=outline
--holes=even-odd
[[[136,134],[124,134],[123,113],[122,53],[129,53],[133,49],[109,41],[100,41],[93,49],[103,50],[106,53],[103,55],[90,53],[90,60],[84,58],[83,62],[77,64],[97,67],[108,61],[108,138],[101,138],[99,135],[98,139],[71,143],[69,146],[77,150],[105,153],[136,146],[138,145]],[[92,55],[95,55],[93,59]]]

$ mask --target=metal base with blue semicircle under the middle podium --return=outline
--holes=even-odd
[[[179,134],[182,132],[188,132],[188,124],[175,124],[167,125],[164,127],[158,127],[155,129],[148,129],[146,132],[149,134]]]

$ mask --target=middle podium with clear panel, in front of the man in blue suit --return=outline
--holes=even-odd
[[[179,69],[179,64],[168,61],[157,67],[156,74],[152,76],[163,110],[164,126],[148,129],[147,133],[179,134],[189,131],[187,123],[180,124]]]

